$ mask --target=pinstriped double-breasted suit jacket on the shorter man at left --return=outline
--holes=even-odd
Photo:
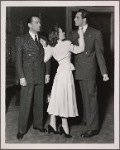
[[[44,49],[29,33],[16,38],[16,70],[18,79],[26,78],[28,84],[44,84]]]

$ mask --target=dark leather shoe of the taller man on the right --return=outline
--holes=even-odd
[[[99,130],[88,130],[85,133],[81,134],[82,138],[89,138],[95,136],[99,133]]]

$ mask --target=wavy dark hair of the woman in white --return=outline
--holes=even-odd
[[[59,27],[54,26],[49,32],[49,45],[54,47],[59,39]]]

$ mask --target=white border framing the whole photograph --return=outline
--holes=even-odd
[[[5,143],[6,7],[114,6],[114,143],[7,144]],[[119,149],[119,1],[1,1],[1,148],[2,149]]]

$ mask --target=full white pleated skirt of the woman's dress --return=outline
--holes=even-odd
[[[58,67],[47,109],[49,114],[66,118],[78,116],[73,67],[71,63]]]

